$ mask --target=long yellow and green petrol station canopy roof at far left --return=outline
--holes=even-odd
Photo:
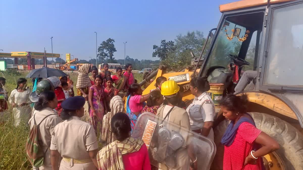
[[[30,56],[31,58],[40,58],[44,57],[44,53],[38,52],[28,52],[28,51],[21,51],[21,52],[11,52],[11,53],[0,53],[0,57],[4,58],[27,58]],[[60,57],[60,54],[52,54],[52,53],[45,53],[45,56],[48,57]]]

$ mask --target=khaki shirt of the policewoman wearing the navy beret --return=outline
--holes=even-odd
[[[62,158],[90,159],[88,151],[98,149],[92,125],[77,116],[59,123],[52,132],[51,150],[58,150]]]

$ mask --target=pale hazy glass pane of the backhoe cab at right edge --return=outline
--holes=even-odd
[[[264,85],[302,87],[303,3],[274,9]]]

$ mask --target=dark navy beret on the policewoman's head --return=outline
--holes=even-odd
[[[85,98],[82,96],[68,97],[61,103],[63,109],[77,110],[81,109],[85,104]]]

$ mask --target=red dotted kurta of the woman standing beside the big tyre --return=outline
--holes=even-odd
[[[230,146],[224,146],[224,170],[261,170],[261,159],[256,165],[243,166],[245,158],[252,150],[255,139],[261,130],[248,122],[243,122],[238,128],[234,142]]]

